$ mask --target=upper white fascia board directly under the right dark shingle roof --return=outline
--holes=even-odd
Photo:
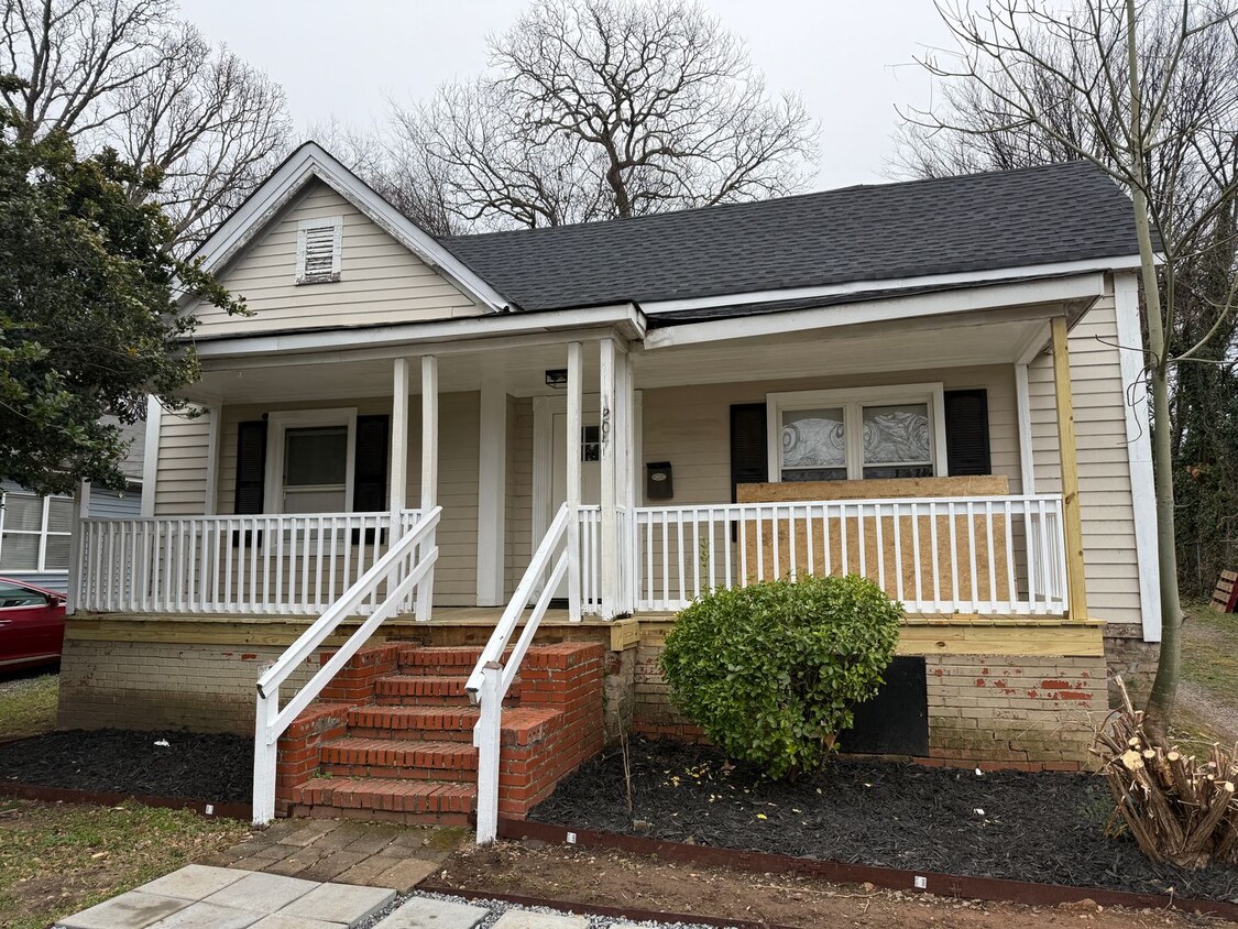
[[[683,312],[687,310],[711,310],[719,306],[771,303],[782,300],[812,300],[815,297],[838,297],[849,294],[879,294],[884,290],[905,290],[907,287],[938,287],[953,284],[1002,281],[1010,280],[1011,277],[1051,277],[1133,268],[1139,268],[1139,255],[1091,259],[1087,261],[1060,261],[1057,264],[1030,265],[1026,268],[1000,268],[990,271],[935,274],[922,277],[849,281],[847,284],[831,284],[821,287],[794,287],[787,290],[761,290],[750,294],[723,294],[712,297],[688,297],[685,300],[643,301],[640,308],[650,316],[656,316],[657,313]]]

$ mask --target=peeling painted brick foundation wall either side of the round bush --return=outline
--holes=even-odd
[[[633,731],[703,741],[670,704],[661,639],[636,650]],[[930,764],[1075,770],[1108,709],[1102,658],[928,655]]]

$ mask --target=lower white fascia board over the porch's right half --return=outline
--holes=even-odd
[[[1003,306],[1057,303],[1067,300],[1096,300],[1104,295],[1104,274],[1094,271],[1073,277],[999,284],[992,287],[916,294],[858,303],[822,306],[812,310],[787,310],[734,320],[678,323],[654,329],[645,337],[645,348],[671,348],[701,342],[723,342],[810,329],[837,328],[886,320],[911,320],[943,316]],[[644,308],[644,306],[641,307]]]

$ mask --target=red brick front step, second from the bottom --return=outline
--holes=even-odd
[[[332,777],[477,782],[477,749],[465,742],[348,737],[324,744],[321,757]]]

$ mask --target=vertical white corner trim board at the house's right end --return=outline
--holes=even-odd
[[[1130,467],[1130,505],[1135,517],[1135,554],[1139,567],[1139,608],[1144,642],[1160,642],[1160,561],[1156,557],[1156,486],[1148,399],[1132,385],[1144,368],[1143,329],[1139,325],[1139,279],[1134,273],[1113,276],[1118,320],[1118,359],[1122,365],[1123,410],[1127,420],[1127,462]]]

